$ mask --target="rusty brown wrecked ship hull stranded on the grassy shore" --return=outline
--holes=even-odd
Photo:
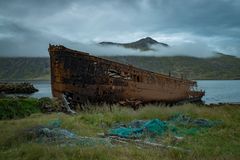
[[[170,77],[99,58],[64,46],[49,46],[54,97],[73,104],[199,101],[195,81]]]

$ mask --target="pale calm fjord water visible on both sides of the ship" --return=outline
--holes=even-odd
[[[31,81],[39,89],[32,97],[51,97],[50,81]],[[240,103],[240,80],[198,80],[198,88],[205,90],[203,101],[210,103]]]

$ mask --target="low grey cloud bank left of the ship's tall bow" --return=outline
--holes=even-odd
[[[18,23],[5,22],[0,35],[1,56],[47,56],[49,43],[72,43],[62,37],[34,30]]]

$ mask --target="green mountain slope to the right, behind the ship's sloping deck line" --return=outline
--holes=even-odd
[[[240,58],[219,56],[196,58],[174,57],[107,57],[154,72],[188,79],[240,79]]]

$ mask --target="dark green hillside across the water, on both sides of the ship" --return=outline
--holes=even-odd
[[[104,57],[114,61],[188,79],[240,79],[240,58],[219,55],[211,58],[186,56]],[[0,58],[0,80],[50,79],[49,58]]]

